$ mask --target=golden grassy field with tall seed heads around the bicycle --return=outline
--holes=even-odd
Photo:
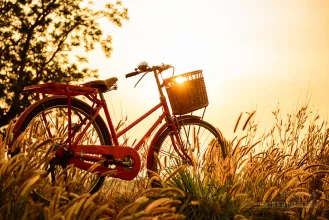
[[[0,219],[328,219],[328,123],[307,105],[292,114],[272,113],[273,125],[264,134],[255,112],[241,114],[235,138],[225,142],[228,156],[211,149],[212,169],[180,166],[161,180],[162,188],[149,187],[143,178],[108,178],[93,195],[54,187],[50,202],[33,194],[44,187],[40,166],[47,160],[33,155],[47,143],[7,158],[4,139]]]

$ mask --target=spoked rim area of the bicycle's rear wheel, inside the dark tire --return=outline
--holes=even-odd
[[[30,146],[35,146],[34,143],[43,142],[37,151],[33,152],[32,160],[41,163],[40,170],[46,170],[46,174],[41,180],[41,187],[34,190],[34,193],[43,200],[50,200],[54,196],[54,186],[65,188],[67,192],[74,194],[90,193],[95,186],[103,181],[98,174],[88,173],[73,166],[67,166],[65,163],[54,165],[53,160],[49,159],[56,152],[65,140],[67,140],[68,120],[67,106],[49,107],[37,114],[28,123],[24,137],[20,143],[20,149],[27,152]],[[74,106],[71,108],[72,127],[79,128],[74,136],[74,140],[83,130],[85,125],[82,125],[85,120],[88,123],[90,116]],[[55,143],[47,143],[50,138],[56,139]],[[88,128],[84,137],[79,141],[81,145],[104,145],[104,138],[100,128],[95,121]],[[48,160],[46,159],[48,158]],[[38,161],[39,159],[39,161]],[[45,172],[44,172],[45,173]]]

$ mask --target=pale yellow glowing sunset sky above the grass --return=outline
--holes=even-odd
[[[105,2],[97,0],[98,4]],[[155,80],[125,78],[137,64],[169,63],[176,74],[202,69],[210,105],[205,120],[233,137],[241,112],[257,110],[261,129],[279,105],[293,113],[309,97],[322,118],[329,110],[329,1],[123,0],[130,21],[102,23],[113,53],[90,54],[100,79],[117,77],[105,95],[115,121],[132,122],[158,103]],[[129,132],[138,138],[157,116]],[[146,132],[146,130],[145,130]]]

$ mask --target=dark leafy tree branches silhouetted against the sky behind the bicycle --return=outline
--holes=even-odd
[[[97,77],[97,70],[81,64],[88,63],[85,55],[96,44],[111,55],[111,36],[99,21],[120,27],[129,19],[121,2],[98,10],[93,0],[7,0],[0,14],[0,127],[31,103],[25,86]]]

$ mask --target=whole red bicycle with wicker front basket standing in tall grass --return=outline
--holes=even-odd
[[[162,73],[170,68],[173,76],[164,79]],[[35,93],[37,101],[16,121],[11,143],[19,140],[19,146],[9,148],[10,153],[16,155],[26,152],[36,142],[55,140],[35,152],[35,157],[52,158],[41,166],[46,171],[45,186],[63,185],[64,181],[76,194],[98,191],[106,176],[134,179],[141,170],[138,151],[150,137],[146,168],[162,177],[181,164],[193,163],[204,168],[206,157],[211,155],[207,150],[209,146],[219,147],[225,156],[220,132],[202,119],[208,105],[202,71],[174,76],[171,65],[150,67],[143,62],[135,72],[126,74],[126,78],[144,74],[140,81],[150,72],[155,77],[160,103],[119,131],[113,125],[103,95],[117,88],[117,78],[82,85],[45,83],[25,87],[25,92]],[[167,90],[172,113],[163,87]],[[89,101],[77,98],[81,96]],[[188,114],[201,108],[204,108],[202,117]],[[100,116],[102,109],[107,123]],[[134,147],[119,144],[119,137],[158,109],[162,109],[162,114]],[[207,166],[209,169],[210,165]],[[43,198],[50,195],[47,187],[36,193]]]

